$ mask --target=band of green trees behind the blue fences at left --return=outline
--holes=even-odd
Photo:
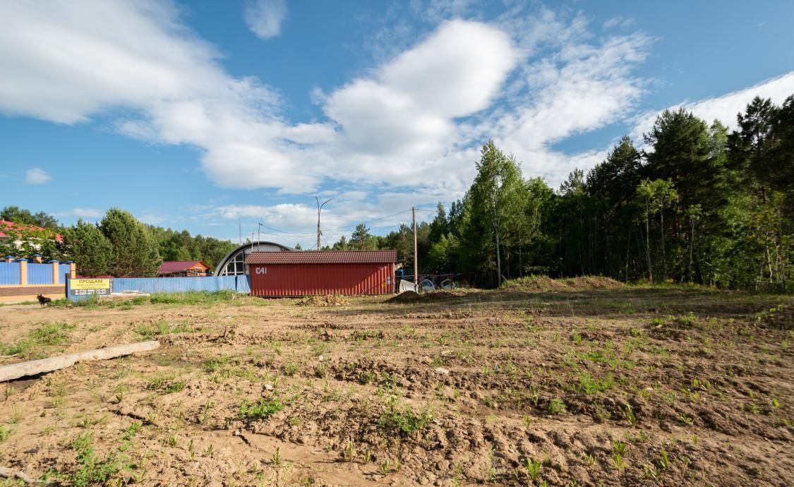
[[[108,210],[100,222],[79,219],[72,226],[59,226],[56,218],[44,212],[33,214],[11,206],[0,211],[0,219],[21,225],[3,230],[13,238],[0,243],[2,255],[40,253],[45,261],[75,261],[81,276],[156,276],[163,261],[206,261],[214,266],[237,248],[227,240],[147,225],[119,208]],[[56,234],[63,242],[56,242]]]

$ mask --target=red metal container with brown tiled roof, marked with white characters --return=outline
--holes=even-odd
[[[395,250],[254,252],[249,265],[252,296],[391,294]]]

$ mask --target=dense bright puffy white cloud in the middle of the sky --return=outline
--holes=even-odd
[[[372,76],[327,95],[323,109],[339,127],[330,153],[361,180],[428,180],[458,142],[457,119],[487,109],[517,61],[502,30],[445,22]]]

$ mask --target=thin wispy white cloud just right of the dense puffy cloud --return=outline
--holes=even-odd
[[[591,168],[603,160],[603,149],[567,154],[553,145],[633,113],[647,83],[634,70],[648,56],[653,39],[633,33],[594,41],[583,17],[564,21],[549,10],[535,21],[515,18],[514,13],[505,25],[519,32],[530,62],[510,88],[512,110],[488,119],[482,130],[515,154],[525,176],[541,176],[555,186],[574,168]],[[553,50],[549,53],[547,47],[539,56],[539,44]]]

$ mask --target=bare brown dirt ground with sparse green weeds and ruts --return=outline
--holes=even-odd
[[[0,307],[0,365],[162,344],[3,385],[0,466],[56,485],[794,485],[791,296],[390,297]]]

